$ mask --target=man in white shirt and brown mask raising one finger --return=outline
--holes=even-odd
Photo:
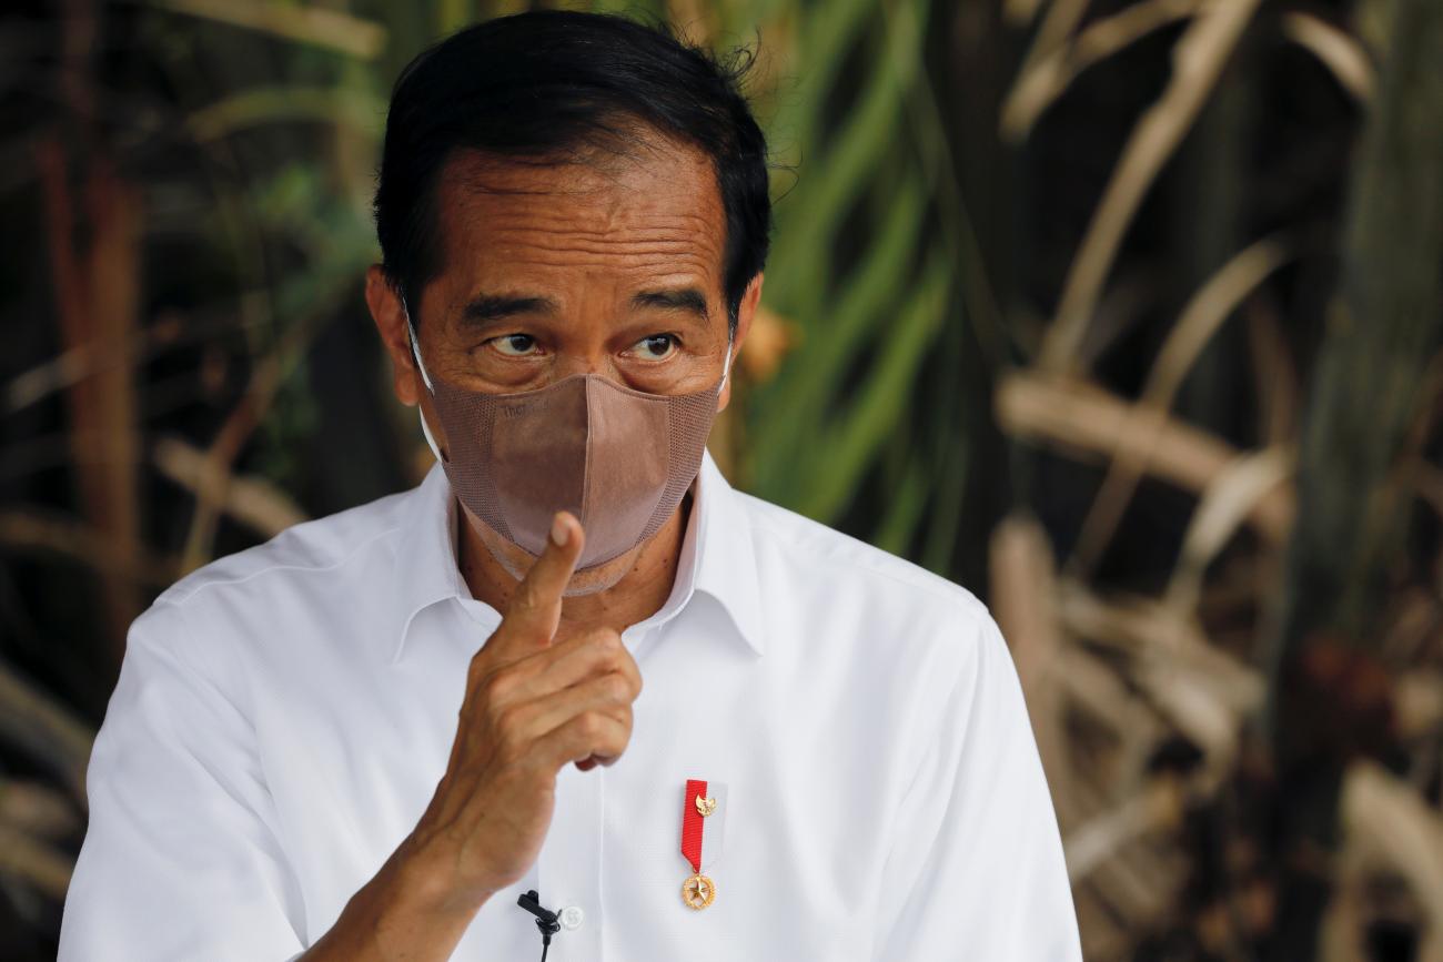
[[[704,451],[736,82],[554,12],[407,68],[367,300],[440,463],[137,619],[63,962],[1079,958],[987,609]]]

